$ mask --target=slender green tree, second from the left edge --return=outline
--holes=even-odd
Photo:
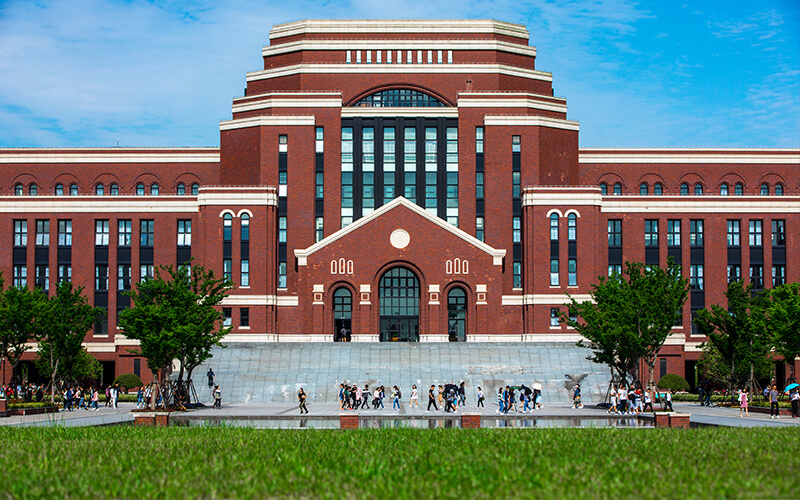
[[[44,363],[49,368],[50,402],[55,403],[57,381],[70,380],[76,367],[87,362],[83,340],[103,309],[89,305],[83,287],[73,288],[69,281],[62,281],[42,311],[38,357],[40,366]]]

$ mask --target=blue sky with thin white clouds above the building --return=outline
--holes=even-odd
[[[524,24],[582,147],[800,147],[796,0],[0,0],[0,147],[216,146],[273,24]]]

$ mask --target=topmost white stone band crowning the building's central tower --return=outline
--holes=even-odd
[[[305,33],[496,33],[515,38],[528,39],[528,30],[522,24],[495,20],[338,20],[306,19],[273,25],[269,39]]]

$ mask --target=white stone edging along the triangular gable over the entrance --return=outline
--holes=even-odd
[[[447,222],[445,220],[442,220],[439,217],[429,213],[428,211],[426,211],[424,208],[420,207],[416,203],[412,203],[408,199],[403,198],[402,196],[399,196],[399,197],[395,198],[394,200],[390,201],[389,203],[387,203],[387,204],[381,206],[380,208],[376,209],[371,214],[366,215],[366,216],[358,219],[357,221],[353,222],[349,226],[344,227],[344,228],[336,231],[335,233],[329,235],[328,237],[321,239],[320,241],[314,243],[310,247],[295,250],[294,251],[294,255],[297,258],[297,264],[300,265],[300,266],[306,265],[308,257],[313,255],[315,252],[318,252],[319,250],[322,250],[326,246],[330,245],[331,243],[334,243],[334,242],[346,237],[350,233],[358,231],[363,226],[366,226],[370,222],[378,219],[379,217],[382,217],[386,213],[396,209],[397,207],[401,207],[401,206],[402,207],[406,207],[412,213],[414,213],[414,214],[416,214],[416,215],[418,215],[418,216],[430,221],[431,223],[435,224],[436,226],[438,226],[442,230],[447,231],[450,234],[453,234],[454,236],[456,236],[459,239],[463,240],[465,243],[467,243],[467,244],[469,244],[469,245],[481,250],[482,252],[490,255],[492,257],[492,262],[495,265],[501,265],[503,263],[503,258],[506,255],[506,251],[504,249],[496,249],[496,248],[493,248],[493,247],[487,245],[486,243],[482,242],[481,240],[479,240],[478,238],[472,236],[471,234],[467,233],[466,231],[463,231],[463,230],[453,226],[449,222]]]

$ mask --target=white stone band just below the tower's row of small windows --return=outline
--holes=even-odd
[[[425,74],[425,73],[463,73],[463,74],[501,74],[528,78],[531,80],[541,80],[552,82],[553,75],[544,71],[534,69],[519,68],[506,64],[497,63],[476,63],[476,64],[311,64],[300,63],[291,66],[281,66],[277,68],[253,71],[247,74],[247,81],[267,80],[270,78],[280,78],[297,74],[376,74],[389,73],[402,75],[406,73]],[[418,109],[418,108],[417,108]]]

